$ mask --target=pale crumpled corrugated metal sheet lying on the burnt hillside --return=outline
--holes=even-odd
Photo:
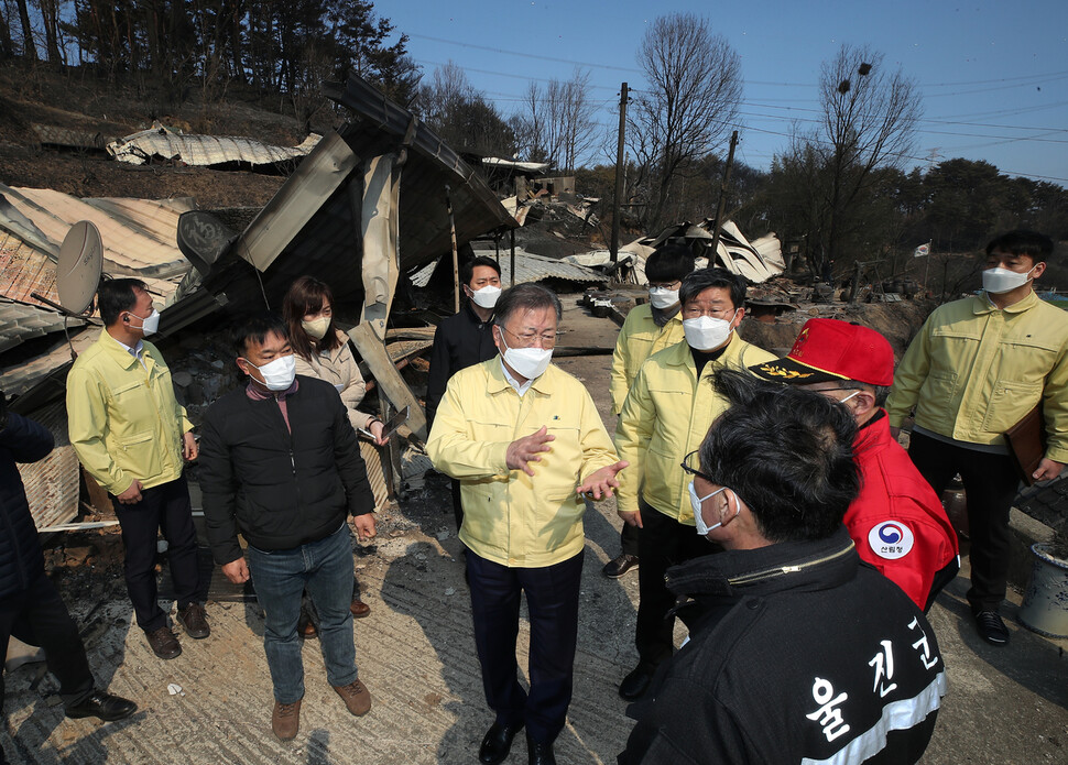
[[[143,165],[152,160],[210,166],[230,162],[273,165],[306,156],[319,141],[308,135],[299,146],[274,146],[251,138],[230,135],[185,135],[156,124],[108,144],[108,153],[119,162]]]

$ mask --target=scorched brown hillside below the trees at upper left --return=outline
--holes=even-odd
[[[240,135],[295,145],[304,140],[295,119],[281,112],[277,97],[230,88],[224,99],[205,100],[195,88],[181,101],[143,79],[109,83],[86,69],[56,73],[44,65],[8,62],[0,67],[0,183],[54,188],[80,197],[193,196],[204,208],[260,207],[282,185],[281,176],[196,167],[137,167],[102,151],[42,147],[32,125],[119,138],[159,120],[188,133]],[[329,116],[327,116],[329,117]]]

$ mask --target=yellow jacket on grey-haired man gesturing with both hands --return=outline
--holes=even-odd
[[[530,463],[534,476],[509,470],[509,445],[543,425],[556,440],[541,462]],[[426,453],[436,469],[460,480],[460,540],[513,568],[552,566],[581,553],[586,503],[575,490],[617,461],[582,383],[551,365],[520,396],[500,357],[453,375]]]

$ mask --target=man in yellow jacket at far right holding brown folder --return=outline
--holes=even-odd
[[[1053,241],[1011,231],[987,245],[983,293],[937,308],[905,352],[886,400],[894,435],[915,408],[908,456],[938,494],[960,473],[968,493],[971,604],[980,636],[1009,642],[1009,511],[1020,477],[1004,431],[1036,404],[1046,453],[1035,480],[1068,462],[1068,314],[1038,299],[1034,280]]]

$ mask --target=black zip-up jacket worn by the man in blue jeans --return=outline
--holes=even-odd
[[[216,562],[241,557],[238,531],[264,550],[292,549],[336,532],[347,513],[374,510],[345,405],[329,383],[297,375],[277,402],[230,391],[204,415],[199,479]]]

